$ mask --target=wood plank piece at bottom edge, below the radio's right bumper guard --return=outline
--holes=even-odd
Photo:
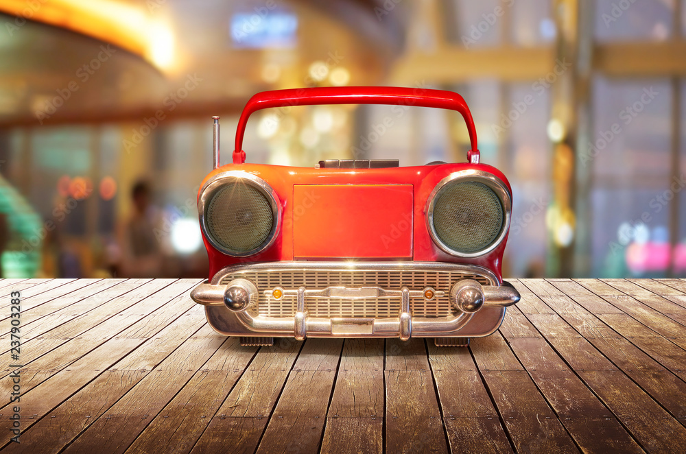
[[[448,452],[431,372],[386,371],[385,436],[389,453]]]

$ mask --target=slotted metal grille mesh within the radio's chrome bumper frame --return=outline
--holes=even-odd
[[[324,289],[326,287],[375,286],[384,289],[422,290],[433,287],[445,292],[445,296],[427,301],[424,298],[410,298],[413,317],[445,317],[455,311],[449,302],[451,286],[460,279],[474,279],[482,285],[492,285],[490,279],[480,274],[460,271],[434,270],[246,270],[226,274],[220,284],[226,285],[235,278],[246,278],[257,285],[259,301],[257,310],[265,317],[293,317],[296,313],[296,298],[283,297],[275,300],[264,294],[274,287],[284,289]],[[344,298],[305,298],[305,309],[311,317],[323,318],[386,318],[397,317],[400,300],[397,298],[368,298],[351,300]]]

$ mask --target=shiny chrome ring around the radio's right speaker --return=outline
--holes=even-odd
[[[503,225],[501,226],[497,237],[495,237],[495,240],[486,246],[486,248],[476,252],[460,252],[458,250],[451,249],[444,241],[442,241],[442,239],[440,239],[434,226],[434,206],[436,205],[436,201],[444,191],[451,187],[452,184],[456,184],[458,182],[479,182],[485,184],[495,193],[503,208]],[[429,198],[427,199],[425,214],[429,235],[436,246],[440,248],[440,250],[452,256],[461,257],[462,259],[473,259],[475,257],[488,254],[488,252],[491,252],[497,248],[507,236],[510,228],[510,216],[512,214],[512,195],[510,195],[510,191],[500,178],[497,178],[497,176],[490,174],[487,171],[476,169],[456,171],[443,178],[440,180],[440,182],[438,182],[438,184],[436,184],[434,189],[429,194]]]

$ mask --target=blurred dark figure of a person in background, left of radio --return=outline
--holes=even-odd
[[[141,180],[134,184],[131,190],[132,213],[119,228],[119,276],[163,276],[164,255],[155,235],[163,219],[160,211],[150,203],[150,196],[147,182]]]

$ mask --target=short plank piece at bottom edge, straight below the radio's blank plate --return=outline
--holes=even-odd
[[[327,418],[322,454],[383,453],[383,419]]]

